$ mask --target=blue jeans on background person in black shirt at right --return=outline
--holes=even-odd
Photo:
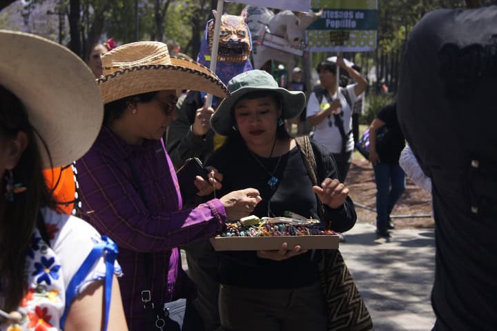
[[[398,163],[373,165],[376,180],[376,228],[387,231],[387,222],[405,190],[405,173]]]

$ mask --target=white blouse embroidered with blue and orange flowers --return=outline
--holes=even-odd
[[[72,277],[84,262],[101,236],[90,224],[66,214],[44,208],[50,245],[47,245],[39,231],[32,235],[30,249],[26,256],[26,296],[18,311],[23,320],[19,324],[0,325],[0,331],[55,331],[60,329],[60,319],[66,308],[66,288]],[[115,274],[121,276],[121,267],[115,265]],[[104,279],[106,266],[104,258],[92,269],[78,286],[81,293],[92,281]],[[114,285],[114,283],[113,283]],[[2,298],[0,297],[0,309]]]

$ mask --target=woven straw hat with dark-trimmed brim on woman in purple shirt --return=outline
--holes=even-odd
[[[168,46],[139,41],[102,55],[102,76],[97,79],[104,103],[160,90],[195,90],[226,97],[226,86],[201,64],[170,57]]]

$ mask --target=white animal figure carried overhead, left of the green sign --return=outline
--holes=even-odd
[[[286,63],[287,72],[292,72],[295,67],[295,54],[304,48],[305,29],[318,19],[320,12],[294,14],[290,10],[283,10],[274,14],[271,10],[259,6],[247,6],[247,26],[251,30],[253,39],[253,65],[260,69],[269,60]],[[267,34],[267,33],[270,34]],[[265,41],[272,41],[273,47],[257,43],[262,36]],[[281,46],[281,47],[279,47]],[[302,52],[300,52],[300,56]]]

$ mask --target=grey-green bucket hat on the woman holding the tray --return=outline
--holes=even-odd
[[[245,94],[253,91],[270,90],[281,95],[283,101],[282,119],[297,117],[306,103],[303,92],[280,88],[273,76],[263,70],[250,70],[237,74],[228,81],[230,97],[224,99],[211,117],[211,128],[218,134],[228,136],[233,132],[235,117],[233,107]]]

